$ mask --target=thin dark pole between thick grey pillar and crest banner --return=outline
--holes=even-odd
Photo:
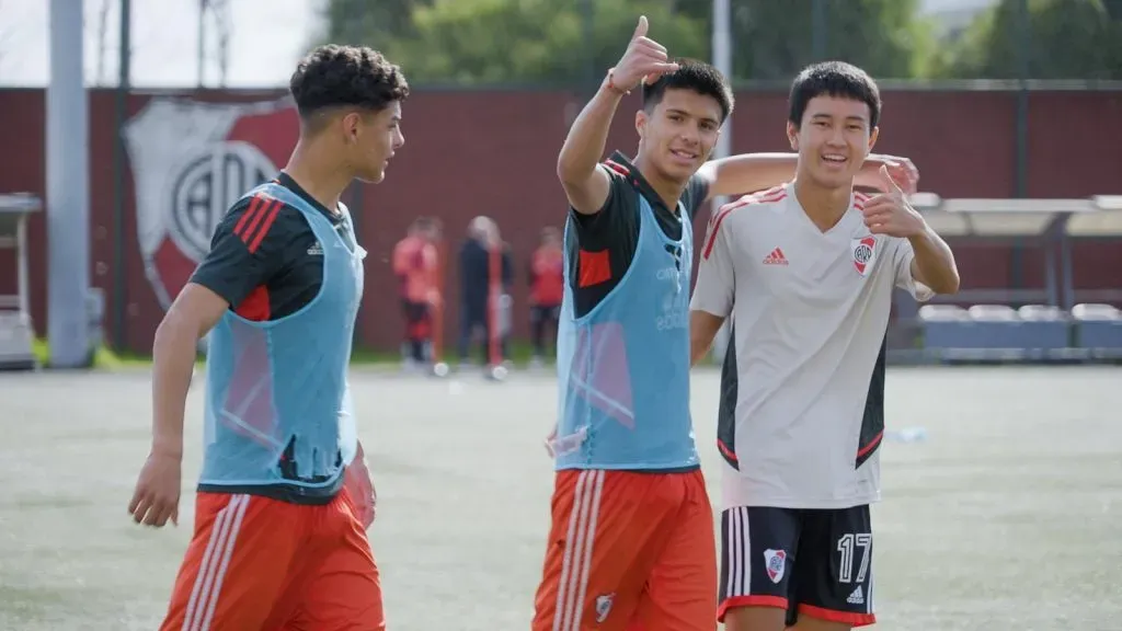
[[[125,119],[128,117],[130,62],[132,58],[132,2],[121,0],[121,37],[117,62],[117,91],[113,102],[113,336],[118,351],[128,346],[125,318],[128,313],[129,286],[125,256]]]

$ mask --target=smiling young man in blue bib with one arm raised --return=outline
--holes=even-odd
[[[793,154],[706,162],[733,110],[712,66],[671,62],[646,18],[558,159],[569,200],[552,527],[535,630],[711,631],[712,512],[689,411],[692,220],[710,195],[790,179]],[[600,164],[642,86],[638,152]],[[885,161],[888,162],[888,161]]]

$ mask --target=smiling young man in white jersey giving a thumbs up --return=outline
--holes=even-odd
[[[958,290],[950,248],[886,170],[884,194],[854,191],[880,110],[862,70],[806,68],[790,94],[795,180],[723,207],[701,248],[695,362],[733,319],[718,420],[728,631],[875,622],[868,505],[880,500],[892,293]]]

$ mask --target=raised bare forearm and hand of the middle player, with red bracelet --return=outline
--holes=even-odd
[[[646,37],[646,17],[641,17],[627,51],[573,121],[558,157],[558,179],[577,212],[595,214],[608,199],[610,181],[598,165],[619,100],[643,77],[655,79],[677,67],[666,63],[666,49]]]

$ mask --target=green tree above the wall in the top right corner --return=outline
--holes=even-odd
[[[963,79],[1122,79],[1122,22],[1102,0],[1029,0],[1020,30],[1020,0],[981,15],[936,63],[936,74]]]

